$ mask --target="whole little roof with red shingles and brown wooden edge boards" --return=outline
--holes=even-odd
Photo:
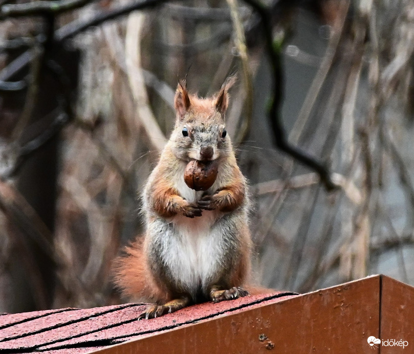
[[[137,321],[144,304],[0,314],[0,354],[414,354],[414,287],[376,275],[284,295],[203,303],[147,321]],[[371,347],[370,336],[407,344]]]

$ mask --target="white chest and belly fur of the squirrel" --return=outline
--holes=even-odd
[[[184,178],[178,180],[182,181],[176,186],[180,195],[190,203],[197,202],[203,191],[196,192],[188,188]],[[172,241],[164,259],[169,260],[167,263],[173,277],[193,295],[200,285],[205,289],[216,272],[219,255],[222,253],[221,235],[214,232],[212,226],[220,214],[217,211],[203,210],[203,215],[199,217],[177,215],[171,219],[180,237]]]

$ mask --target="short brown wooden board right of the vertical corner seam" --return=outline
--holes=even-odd
[[[414,287],[382,275],[381,354],[414,354]]]

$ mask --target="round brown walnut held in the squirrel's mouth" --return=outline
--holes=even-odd
[[[217,161],[190,161],[184,171],[186,185],[194,190],[207,190],[217,177],[219,164]]]

